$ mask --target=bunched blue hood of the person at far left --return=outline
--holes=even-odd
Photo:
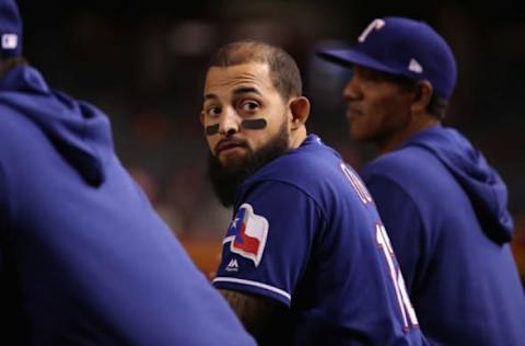
[[[37,124],[86,183],[105,181],[105,163],[114,150],[109,122],[100,109],[49,89],[30,66],[0,78],[0,103]]]

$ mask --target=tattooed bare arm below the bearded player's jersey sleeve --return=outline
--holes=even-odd
[[[255,337],[262,333],[276,313],[282,312],[281,304],[270,298],[226,289],[219,291],[243,322],[246,331]]]

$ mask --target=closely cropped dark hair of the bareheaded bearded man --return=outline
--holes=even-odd
[[[209,67],[230,67],[247,62],[268,64],[270,79],[283,100],[302,95],[303,83],[295,60],[282,48],[258,41],[237,41],[222,46]]]

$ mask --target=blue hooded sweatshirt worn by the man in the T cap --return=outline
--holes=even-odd
[[[456,130],[433,127],[362,172],[428,341],[524,345],[506,187]]]

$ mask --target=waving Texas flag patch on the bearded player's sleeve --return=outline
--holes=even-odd
[[[245,203],[238,208],[226,232],[223,244],[230,243],[230,251],[252,260],[258,266],[268,237],[268,220],[254,212]]]

